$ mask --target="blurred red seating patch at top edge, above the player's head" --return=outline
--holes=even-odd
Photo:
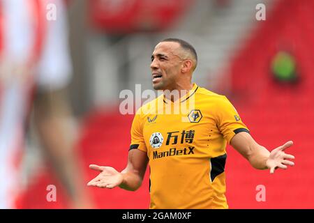
[[[89,20],[108,33],[164,31],[186,13],[194,0],[107,0],[89,1]]]

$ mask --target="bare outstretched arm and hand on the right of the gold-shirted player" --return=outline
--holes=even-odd
[[[270,169],[270,173],[274,174],[277,168],[287,169],[287,166],[294,166],[294,162],[290,161],[294,156],[285,153],[285,149],[293,145],[292,141],[287,141],[269,153],[267,148],[257,144],[251,134],[240,132],[231,139],[230,144],[256,169]]]

